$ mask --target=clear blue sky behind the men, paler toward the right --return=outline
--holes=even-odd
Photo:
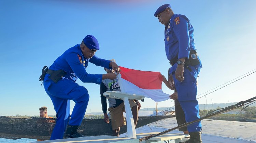
[[[198,95],[256,69],[254,0],[2,0],[0,115],[38,115],[42,106],[55,114],[52,101],[38,81],[41,70],[88,34],[99,41],[98,57],[114,58],[119,66],[160,71],[167,76],[170,65],[163,42],[165,27],[153,16],[166,3],[175,14],[186,15],[194,27],[203,65]],[[93,64],[88,65],[87,72],[105,73]],[[254,97],[255,80],[256,73],[213,92],[207,95],[208,103],[211,99],[213,103],[227,103]],[[102,111],[99,85],[78,83],[90,94],[86,113]],[[173,93],[165,85],[162,88],[165,93]],[[198,101],[206,103],[204,97]],[[158,107],[171,104],[171,100],[159,102]],[[142,103],[142,108],[154,107],[151,99]]]

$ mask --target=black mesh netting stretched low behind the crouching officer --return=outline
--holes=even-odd
[[[175,117],[175,115],[139,117],[136,128],[171,117]],[[55,122],[56,119],[49,118],[14,118],[0,116],[0,138],[49,140]],[[83,119],[79,130],[85,136],[111,136],[111,120],[109,124],[106,124],[103,119]],[[126,125],[120,128],[119,133],[122,134],[125,132],[127,132]]]

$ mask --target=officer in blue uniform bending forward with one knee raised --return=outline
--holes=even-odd
[[[53,129],[51,140],[62,139],[66,131],[66,138],[84,137],[77,132],[81,125],[89,101],[88,90],[75,83],[79,78],[84,83],[100,84],[103,79],[115,79],[115,73],[89,74],[86,72],[88,62],[119,73],[120,68],[115,62],[100,59],[95,56],[99,50],[99,43],[92,35],[87,35],[81,44],[65,51],[49,67],[43,84],[46,93],[51,98],[56,111],[56,125]],[[70,100],[75,106],[70,118]],[[68,125],[67,125],[68,124]]]

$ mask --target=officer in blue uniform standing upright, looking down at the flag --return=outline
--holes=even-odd
[[[196,82],[202,65],[195,48],[193,26],[186,16],[174,14],[170,4],[160,6],[154,16],[165,25],[165,51],[171,64],[168,80],[174,80],[186,122],[200,119]],[[185,143],[202,143],[201,122],[187,128],[190,139]]]

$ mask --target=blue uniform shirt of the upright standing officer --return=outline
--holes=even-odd
[[[174,14],[165,28],[165,52],[168,60],[178,55],[189,58],[190,50],[195,49],[194,29],[189,19],[180,14]]]

